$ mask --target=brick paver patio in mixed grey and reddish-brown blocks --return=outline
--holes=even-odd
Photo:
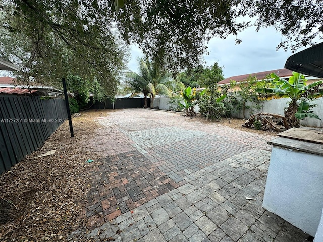
[[[86,144],[106,158],[93,162],[90,230],[71,240],[310,241],[261,207],[273,136],[145,109],[97,122]]]

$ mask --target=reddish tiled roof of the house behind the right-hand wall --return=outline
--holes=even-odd
[[[229,84],[230,80],[234,80],[236,82],[243,82],[247,80],[249,75],[251,76],[256,76],[258,80],[264,79],[268,74],[271,73],[276,73],[280,77],[290,77],[292,76],[292,71],[288,70],[286,68],[282,69],[275,69],[275,70],[270,70],[270,71],[264,71],[264,72],[256,72],[256,73],[249,73],[249,74],[244,74],[244,75],[239,75],[239,76],[234,76],[234,77],[228,77],[220,82],[218,84]]]

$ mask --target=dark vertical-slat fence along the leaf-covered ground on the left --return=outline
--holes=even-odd
[[[63,99],[0,97],[0,174],[41,147],[66,119]]]

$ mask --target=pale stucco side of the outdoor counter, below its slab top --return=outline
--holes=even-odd
[[[315,236],[323,207],[323,157],[273,146],[263,207]]]

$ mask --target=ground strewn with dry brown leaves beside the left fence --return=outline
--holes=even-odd
[[[65,240],[84,226],[80,214],[90,186],[88,172],[95,165],[86,161],[100,158],[83,142],[100,128],[94,116],[100,113],[73,118],[74,138],[65,122],[40,149],[0,176],[1,204],[11,207],[9,220],[0,225],[0,241]],[[55,154],[33,159],[53,149]]]

